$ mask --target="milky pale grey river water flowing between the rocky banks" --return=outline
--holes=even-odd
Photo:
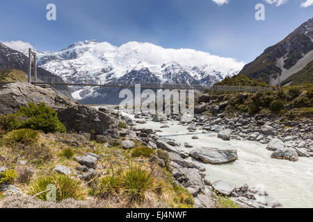
[[[134,115],[123,114],[134,119]],[[160,128],[163,125],[170,127]],[[168,121],[166,124],[147,121],[146,124],[137,123],[136,128],[161,130],[157,135],[175,139],[180,144],[176,147],[180,151],[190,152],[193,148],[205,146],[234,146],[238,152],[238,160],[235,162],[203,164],[208,180],[225,180],[237,186],[247,183],[249,187],[262,187],[283,207],[313,207],[312,157],[299,157],[298,162],[272,159],[272,151],[266,150],[265,144],[235,139],[223,141],[216,137],[216,133],[202,133],[202,130],[189,133],[188,126],[179,125],[178,121]],[[197,135],[199,139],[191,139],[193,135]],[[185,142],[193,148],[185,148]]]

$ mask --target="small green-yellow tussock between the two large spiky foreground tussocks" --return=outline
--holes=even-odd
[[[99,196],[106,198],[116,194],[120,190],[120,179],[114,176],[106,176],[99,181]]]

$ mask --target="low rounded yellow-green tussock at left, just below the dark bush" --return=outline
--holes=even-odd
[[[4,144],[35,144],[38,142],[39,133],[32,129],[13,130],[3,137]]]

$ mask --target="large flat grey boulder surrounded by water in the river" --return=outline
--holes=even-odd
[[[223,164],[238,159],[236,148],[197,148],[189,155],[209,164]]]

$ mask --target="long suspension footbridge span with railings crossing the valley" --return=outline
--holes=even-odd
[[[266,92],[269,87],[254,87],[244,85],[208,85],[208,84],[188,84],[188,83],[161,83],[161,82],[141,82],[141,81],[113,81],[111,83],[65,83],[62,78],[55,76],[39,76],[37,82],[35,78],[31,79],[31,83],[49,84],[49,85],[81,85],[81,86],[95,86],[95,87],[135,87],[137,84],[141,88],[147,89],[198,89],[198,90],[213,90],[223,92]]]

